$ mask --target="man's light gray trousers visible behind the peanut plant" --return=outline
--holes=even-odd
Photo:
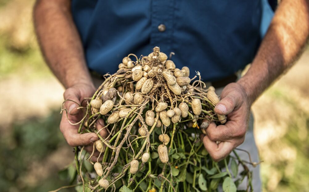
[[[99,87],[101,85],[101,83],[103,82],[103,79],[99,79],[97,77],[92,76],[92,81],[93,81],[95,87]],[[222,90],[223,90],[223,88],[218,88],[218,89],[216,89],[216,93],[218,95],[220,95]],[[248,125],[248,131],[247,131],[246,136],[245,136],[245,141],[243,142],[243,144],[241,144],[237,148],[248,151],[251,155],[252,161],[253,162],[259,162],[259,154],[258,154],[258,151],[257,151],[257,148],[256,148],[254,136],[253,136],[253,115],[252,115],[251,112],[250,112],[250,120],[249,120],[249,125]],[[249,162],[249,156],[248,156],[247,153],[245,153],[243,151],[236,151],[236,152],[238,153],[238,155],[241,159]],[[253,168],[253,166],[250,165],[250,164],[248,164],[247,166],[253,172],[253,174],[252,174],[253,190],[255,192],[260,192],[262,190],[261,189],[261,178],[260,178],[260,165],[256,166],[255,168]],[[231,168],[231,167],[229,166],[229,168]],[[243,167],[241,165],[239,165],[238,173],[241,173],[242,171],[243,171]],[[244,179],[243,182],[238,186],[238,190],[245,190],[245,189],[247,189],[247,179]],[[222,189],[219,189],[219,191],[222,191]]]

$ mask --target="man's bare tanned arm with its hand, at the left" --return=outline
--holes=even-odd
[[[70,11],[70,0],[37,0],[34,7],[34,25],[43,52],[44,59],[58,80],[66,88],[64,98],[68,101],[68,118],[77,123],[83,113],[77,109],[85,97],[91,97],[95,87],[89,74],[82,42],[74,24]],[[101,129],[103,121],[97,128]],[[78,133],[78,125],[71,125],[62,113],[60,130],[70,146],[89,145],[87,151],[92,151],[91,143],[98,140],[95,133]],[[107,131],[100,132],[104,137]],[[98,152],[97,152],[98,153]],[[95,154],[96,155],[96,154]]]

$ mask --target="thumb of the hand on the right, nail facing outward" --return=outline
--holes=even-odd
[[[214,108],[214,111],[219,115],[227,115],[231,113],[236,105],[236,99],[232,95],[222,98]]]

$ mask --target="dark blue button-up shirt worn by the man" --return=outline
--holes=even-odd
[[[100,74],[159,46],[191,76],[219,80],[250,63],[261,41],[261,0],[73,0],[71,8],[87,65]]]

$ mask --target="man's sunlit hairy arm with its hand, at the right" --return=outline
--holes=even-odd
[[[251,68],[227,85],[215,112],[227,115],[224,125],[211,123],[203,137],[211,157],[219,161],[243,143],[249,111],[256,98],[302,53],[309,35],[309,1],[282,0]],[[220,141],[217,145],[216,141]]]

